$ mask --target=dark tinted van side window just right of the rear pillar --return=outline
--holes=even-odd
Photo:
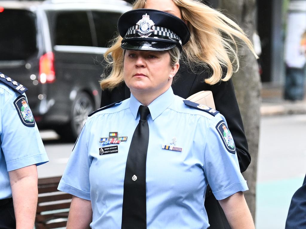
[[[55,24],[55,45],[92,46],[87,12],[61,12]]]

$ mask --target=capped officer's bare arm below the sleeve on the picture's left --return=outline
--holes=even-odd
[[[67,229],[88,229],[92,221],[91,201],[73,196]]]

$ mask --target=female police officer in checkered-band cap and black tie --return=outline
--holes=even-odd
[[[223,116],[173,94],[185,23],[139,9],[118,29],[124,59],[114,64],[131,98],[91,114],[76,141],[58,187],[73,194],[67,228],[208,228],[208,183],[233,228],[254,228]]]

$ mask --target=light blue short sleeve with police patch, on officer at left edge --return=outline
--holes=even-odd
[[[39,130],[25,94],[6,91],[1,96],[1,150],[7,171],[48,162]],[[14,103],[20,98],[20,107]],[[15,105],[14,105],[15,104]]]

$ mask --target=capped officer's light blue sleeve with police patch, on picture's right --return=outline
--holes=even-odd
[[[240,169],[230,130],[222,115],[216,115],[207,129],[204,172],[216,199],[248,190]]]

